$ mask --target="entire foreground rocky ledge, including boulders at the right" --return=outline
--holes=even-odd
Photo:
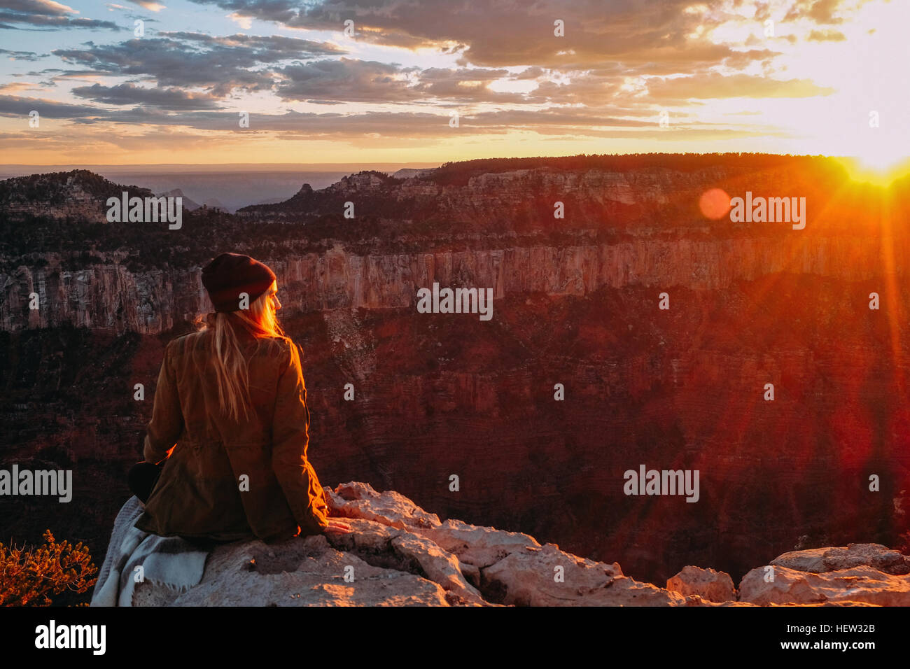
[[[704,606],[750,604],[910,603],[907,577],[867,563],[894,566],[893,551],[877,544],[820,549],[862,566],[814,574],[775,567],[747,574],[736,600],[723,572],[687,566],[667,589],[622,574],[521,532],[465,522],[440,522],[398,492],[349,482],[326,489],[333,517],[352,532],[326,533],[267,545],[217,547],[202,582],[187,593],[157,583],[136,585],[136,606]],[[796,564],[817,551],[788,553]],[[900,553],[897,553],[900,555]],[[901,556],[906,560],[905,556]]]

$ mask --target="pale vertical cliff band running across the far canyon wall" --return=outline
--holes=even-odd
[[[883,276],[885,261],[905,274],[908,248],[850,237],[634,240],[599,246],[470,249],[358,255],[337,244],[324,254],[272,260],[284,308],[411,309],[417,290],[493,289],[494,299],[540,292],[588,295],[602,288],[643,286],[717,290],[778,272],[862,281]],[[122,265],[67,270],[44,267],[0,274],[0,328],[15,331],[69,323],[117,333],[157,334],[211,309],[202,269],[130,272]],[[41,309],[29,309],[37,293]]]

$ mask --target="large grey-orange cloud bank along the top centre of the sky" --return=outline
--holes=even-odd
[[[288,0],[193,2],[297,28],[341,31],[351,19],[358,41],[409,49],[454,45],[460,65],[581,69],[619,60],[673,64],[679,72],[705,58],[717,65],[733,53],[687,36],[726,20],[683,12],[692,0],[538,0],[527,6],[511,0],[319,0],[299,8]],[[553,34],[556,19],[564,22],[563,37]]]

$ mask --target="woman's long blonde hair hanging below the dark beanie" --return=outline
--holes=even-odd
[[[276,292],[276,282],[258,297],[249,309],[212,311],[196,319],[200,332],[212,337],[212,367],[215,370],[218,404],[221,411],[234,421],[249,415],[252,400],[249,397],[248,363],[238,340],[238,329],[246,329],[257,339],[257,347],[264,340],[287,340],[278,324],[278,314],[271,296]]]

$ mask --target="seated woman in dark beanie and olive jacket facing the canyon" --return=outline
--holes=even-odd
[[[223,253],[202,269],[215,307],[170,341],[130,488],[136,527],[202,543],[278,542],[349,532],[307,459],[309,410],[298,346],[278,325],[275,273]]]

